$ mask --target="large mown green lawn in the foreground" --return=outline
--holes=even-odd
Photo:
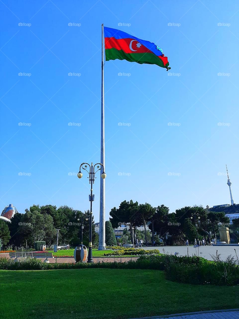
[[[0,296],[4,319],[120,319],[238,308],[239,286],[179,284],[154,270],[0,271]]]

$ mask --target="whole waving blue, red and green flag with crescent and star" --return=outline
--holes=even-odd
[[[153,42],[141,40],[126,32],[104,27],[105,61],[127,60],[140,64],[156,64],[162,68],[169,67],[167,56]]]

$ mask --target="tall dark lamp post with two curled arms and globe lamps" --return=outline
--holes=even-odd
[[[95,171],[95,167],[97,170]],[[93,166],[93,163],[88,164],[88,163],[82,163],[80,166],[79,173],[77,174],[78,178],[82,178],[83,174],[81,172],[81,168],[86,170],[86,172],[89,174],[89,182],[91,184],[91,194],[89,195],[89,201],[91,202],[91,211],[90,211],[90,236],[89,236],[89,254],[88,254],[88,259],[87,263],[93,263],[93,258],[92,258],[92,202],[94,201],[95,195],[93,195],[93,184],[95,182],[95,174],[103,168],[103,173],[101,174],[101,178],[105,179],[106,174],[105,174],[105,169],[104,165],[101,163],[97,163]],[[89,169],[89,171],[87,170]]]

